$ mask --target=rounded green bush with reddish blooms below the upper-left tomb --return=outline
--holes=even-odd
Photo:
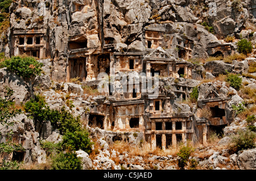
[[[34,57],[14,56],[6,58],[3,66],[23,78],[33,78],[41,74],[43,64],[36,61]]]

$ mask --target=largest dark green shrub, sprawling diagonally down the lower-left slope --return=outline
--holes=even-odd
[[[42,123],[50,121],[54,129],[59,129],[63,134],[63,142],[55,145],[51,142],[42,142],[44,148],[49,154],[51,151],[67,150],[84,150],[90,153],[92,142],[90,142],[89,133],[82,129],[80,117],[74,117],[72,113],[62,107],[61,110],[51,110],[47,106],[43,96],[35,95],[35,99],[28,101],[24,109],[34,117],[35,121]]]

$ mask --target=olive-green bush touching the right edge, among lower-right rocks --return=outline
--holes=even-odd
[[[239,150],[246,150],[255,147],[254,139],[256,134],[249,129],[239,130],[236,136],[232,137],[234,147]]]

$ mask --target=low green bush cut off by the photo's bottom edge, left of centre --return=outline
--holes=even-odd
[[[75,153],[59,153],[52,160],[53,170],[81,170],[81,161]]]

